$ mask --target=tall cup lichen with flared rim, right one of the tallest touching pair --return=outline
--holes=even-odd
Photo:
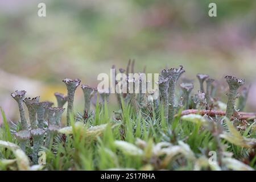
[[[180,65],[180,68],[171,68],[169,69],[171,74],[169,88],[168,88],[168,102],[169,102],[169,112],[168,112],[168,122],[171,122],[174,119],[175,114],[175,89],[177,85],[177,80],[185,72],[183,66]]]

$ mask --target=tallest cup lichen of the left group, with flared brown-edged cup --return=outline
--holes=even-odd
[[[81,80],[79,78],[71,79],[71,78],[65,78],[63,80],[65,85],[67,86],[68,90],[68,108],[67,108],[67,125],[70,125],[70,117],[73,113],[73,102],[74,102],[74,96],[75,96],[75,90],[77,86],[80,85]]]

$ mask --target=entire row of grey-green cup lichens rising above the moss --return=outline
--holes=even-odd
[[[130,63],[130,62],[129,62]],[[131,64],[131,71],[134,72],[134,61]],[[128,65],[126,72],[129,72],[130,64]],[[114,68],[114,67],[113,67]],[[121,73],[125,72],[125,69],[119,69]],[[175,92],[177,81],[180,76],[184,73],[184,69],[182,66],[179,68],[171,68],[171,69],[163,69],[160,72],[159,76],[159,91],[160,97],[159,99],[154,101],[155,106],[159,106],[159,102],[162,102],[162,106],[164,107],[164,118],[168,123],[172,122],[174,115],[176,114],[177,105],[175,105]],[[209,78],[208,75],[197,74],[197,78],[200,82],[200,90],[196,94],[195,97],[191,96],[191,91],[194,88],[193,83],[189,80],[186,80],[180,84],[180,88],[183,92],[183,100],[182,105],[185,109],[207,109],[210,107],[213,101],[214,93],[216,90],[216,85],[214,84],[214,80]],[[231,118],[236,111],[236,98],[238,88],[244,84],[244,80],[240,78],[236,78],[233,76],[226,76],[226,81],[229,84],[229,93],[228,93],[228,104],[226,107],[226,117]],[[127,82],[135,82],[135,80],[127,80]],[[140,80],[138,80],[140,81]],[[207,82],[206,92],[204,89],[204,81]],[[11,96],[16,100],[19,107],[20,113],[20,130],[15,133],[16,139],[19,141],[19,145],[22,150],[26,151],[26,146],[30,146],[30,140],[32,139],[33,148],[32,148],[32,160],[34,163],[38,162],[38,152],[40,146],[45,146],[50,148],[53,143],[53,138],[57,135],[57,131],[61,127],[61,115],[64,112],[64,104],[68,102],[67,106],[67,126],[70,125],[70,118],[73,114],[73,102],[75,91],[77,86],[80,85],[80,79],[71,79],[65,78],[63,80],[65,85],[67,86],[67,96],[64,96],[62,93],[55,93],[55,97],[57,100],[57,107],[52,107],[53,103],[49,101],[39,102],[39,97],[35,98],[24,98],[26,91],[16,91],[11,94]],[[90,104],[91,98],[97,93],[96,88],[92,88],[88,85],[81,85],[82,91],[84,93],[84,116],[90,113]],[[102,101],[109,100],[110,93],[100,93]],[[140,93],[135,96],[134,93],[131,94],[116,94],[119,105],[121,106],[121,100],[129,101],[130,104],[134,107],[134,110],[139,113],[141,110],[141,106],[143,102],[148,102],[148,100],[144,100],[146,94]],[[150,96],[150,93],[147,94]],[[243,100],[242,104],[244,106],[245,100],[247,97],[247,90],[245,90],[242,94]],[[191,102],[192,101],[192,102]],[[25,117],[25,111],[23,103],[27,106],[30,126],[27,123]],[[242,106],[241,106],[242,107]],[[241,109],[241,108],[240,108]]]

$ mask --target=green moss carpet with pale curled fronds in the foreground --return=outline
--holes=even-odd
[[[160,80],[170,81],[174,78],[172,74],[180,69],[161,71]],[[123,72],[123,69],[120,71]],[[178,78],[175,77],[175,84],[172,82],[170,85],[175,87]],[[230,79],[241,80],[231,76],[227,78],[229,84]],[[1,109],[1,170],[256,169],[255,113],[236,110],[233,88],[229,91],[232,92],[232,102],[228,101],[231,103],[228,116],[221,111],[225,104],[210,94],[214,88],[210,85],[213,80],[207,81],[208,98],[205,98],[203,82],[201,90],[191,96],[193,84],[185,79],[181,89],[176,86],[176,89],[168,90],[169,82],[165,84],[166,88],[162,92],[160,90],[158,100],[148,100],[149,93],[133,93],[133,96],[129,93],[118,94],[119,110],[110,113],[109,94],[97,93],[93,109],[85,105],[82,113],[73,113],[73,98],[80,80],[66,78],[64,82],[68,93],[72,94],[68,94],[69,98],[60,93],[55,96],[59,101],[61,96],[65,98],[64,103],[70,102],[67,124],[61,122],[64,103],[60,104],[61,107],[52,107],[49,101],[39,102],[39,97],[24,98],[25,91],[11,94],[18,102],[21,119],[26,119],[26,115],[20,98],[32,114],[29,115],[30,122],[13,123],[7,122]],[[239,86],[243,82],[239,82]],[[70,85],[72,89],[68,88]],[[85,102],[91,104],[90,97],[96,89],[86,85],[82,85],[82,89],[88,89],[84,90]],[[183,92],[174,94],[174,90]],[[171,98],[172,105],[166,105],[163,98],[170,98],[170,92],[171,97],[179,97]],[[173,109],[171,117],[168,113],[170,105]],[[33,113],[36,113],[36,118]]]

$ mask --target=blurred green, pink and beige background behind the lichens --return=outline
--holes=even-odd
[[[208,16],[210,2],[217,17]],[[246,110],[255,111],[255,35],[255,0],[0,0],[0,106],[15,121],[15,90],[56,103],[54,92],[67,93],[63,78],[97,86],[99,73],[135,59],[135,72],[183,65],[195,91],[196,73],[219,80],[223,93],[225,75],[245,78],[251,84]],[[78,88],[75,110],[82,106]]]

